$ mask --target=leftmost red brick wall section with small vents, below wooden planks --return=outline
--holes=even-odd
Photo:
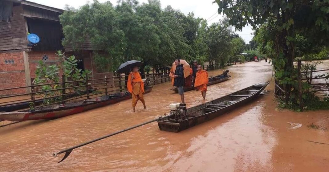
[[[26,86],[23,52],[0,52],[0,89]],[[26,89],[0,91],[0,95],[21,94]]]

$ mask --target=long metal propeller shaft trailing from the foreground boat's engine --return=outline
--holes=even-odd
[[[73,149],[76,149],[76,148],[79,148],[79,147],[82,147],[82,146],[88,145],[88,144],[90,144],[90,143],[96,142],[96,141],[98,141],[98,140],[105,139],[105,138],[110,137],[110,136],[114,136],[114,135],[119,134],[119,133],[124,132],[124,131],[128,131],[128,130],[131,130],[131,129],[135,129],[135,128],[140,127],[140,126],[143,126],[143,125],[146,125],[146,124],[149,124],[149,123],[155,122],[155,121],[159,121],[159,120],[161,120],[161,119],[169,118],[169,117],[171,117],[171,116],[173,116],[173,115],[160,116],[159,118],[156,118],[156,119],[154,119],[154,120],[151,120],[151,121],[148,121],[148,122],[144,122],[144,123],[142,123],[142,124],[138,124],[138,125],[136,125],[136,126],[129,127],[129,128],[127,128],[127,129],[123,129],[123,130],[120,130],[120,131],[114,132],[114,133],[112,133],[112,134],[108,134],[108,135],[102,136],[102,137],[97,138],[97,139],[94,139],[94,140],[90,140],[90,141],[88,141],[88,142],[85,142],[85,143],[79,144],[79,145],[77,145],[77,146],[73,146],[73,147],[70,147],[70,148],[64,149],[64,150],[62,150],[62,151],[59,151],[59,152],[57,152],[57,153],[54,153],[53,156],[57,157],[58,154],[62,154],[62,153],[65,152],[65,155],[64,155],[64,157],[62,158],[62,160],[60,160],[59,162],[57,162],[57,163],[60,163],[60,162],[62,162],[64,159],[66,159],[66,158],[71,154],[71,152],[72,152]]]

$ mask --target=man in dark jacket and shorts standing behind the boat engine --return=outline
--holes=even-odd
[[[184,101],[184,69],[183,65],[180,64],[179,59],[175,60],[176,70],[175,75],[173,76],[174,79],[174,86],[177,87],[178,94],[181,95],[182,103]]]

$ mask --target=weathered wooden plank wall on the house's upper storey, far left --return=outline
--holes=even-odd
[[[10,22],[0,22],[0,51],[25,49],[27,50],[27,38],[22,6],[13,7],[13,16]]]

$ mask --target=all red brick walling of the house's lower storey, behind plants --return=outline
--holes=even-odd
[[[54,51],[29,51],[27,52],[30,68],[30,77],[34,78],[38,61],[42,60],[45,55],[48,57],[44,62],[47,64],[59,64],[56,60]],[[104,75],[112,77],[112,73],[98,73],[97,68],[92,63],[91,50],[82,50],[79,52],[67,52],[66,56],[75,55],[76,58],[83,59],[84,68],[92,71],[89,79],[102,78]],[[60,73],[60,76],[62,73]],[[112,84],[112,82],[111,82]],[[25,68],[23,52],[0,52],[0,90],[5,88],[26,86]],[[15,89],[0,91],[0,95],[12,95],[26,93],[26,89]]]

